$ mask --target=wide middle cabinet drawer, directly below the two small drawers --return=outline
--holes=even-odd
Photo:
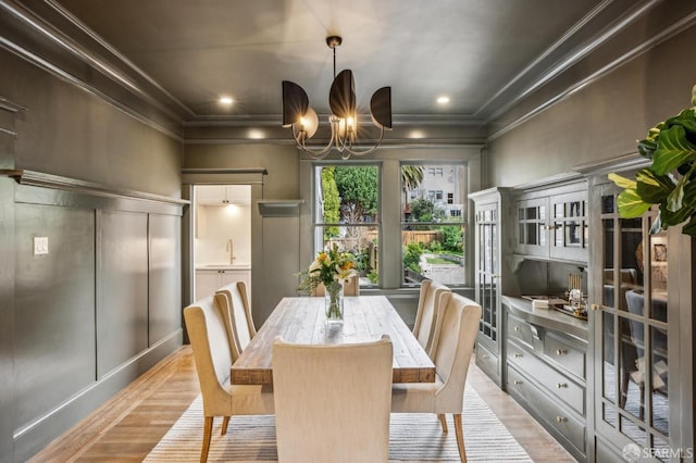
[[[571,381],[544,363],[542,359],[515,346],[514,342],[508,341],[506,346],[508,363],[536,379],[537,383],[551,391],[555,398],[562,400],[581,415],[585,414],[585,388]]]

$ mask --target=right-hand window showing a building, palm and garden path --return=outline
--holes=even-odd
[[[467,281],[465,168],[463,163],[401,164],[402,285],[418,285],[425,278],[452,286]],[[452,175],[444,177],[445,170]],[[427,191],[427,195],[413,199],[411,192],[414,190]],[[446,204],[443,201],[445,191],[448,191]]]

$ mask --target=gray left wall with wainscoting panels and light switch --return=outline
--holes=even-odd
[[[84,180],[0,176],[4,463],[181,346],[183,143],[3,50],[0,68],[0,97],[15,108],[0,109],[0,168]],[[34,255],[35,236],[49,238],[48,255]]]

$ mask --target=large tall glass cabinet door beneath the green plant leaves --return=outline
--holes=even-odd
[[[600,193],[601,270],[595,276],[596,424],[626,451],[649,449],[670,460],[670,393],[667,318],[667,233],[650,236],[655,218],[621,218],[616,189]],[[597,268],[597,266],[595,266]],[[600,295],[598,295],[600,292]],[[641,460],[643,461],[643,460]]]

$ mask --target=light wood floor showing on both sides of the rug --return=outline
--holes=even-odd
[[[575,460],[473,363],[468,380],[535,462]],[[199,393],[185,346],[104,403],[30,462],[140,462]],[[464,423],[464,427],[467,423]]]

